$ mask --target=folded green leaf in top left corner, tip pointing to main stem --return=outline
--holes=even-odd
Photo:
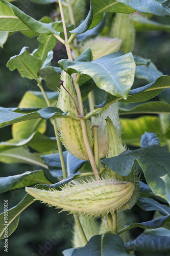
[[[3,3],[3,4],[2,4]],[[22,12],[14,5],[5,0],[0,2],[1,13],[1,31],[18,31],[31,29],[39,34],[57,34],[58,32],[53,29],[53,24],[46,24],[38,22],[36,19]],[[8,29],[9,28],[9,29]]]

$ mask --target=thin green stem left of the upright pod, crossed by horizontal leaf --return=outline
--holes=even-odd
[[[50,104],[50,101],[42,87],[42,84],[40,82],[38,82],[38,87],[40,88],[43,96],[44,96],[44,99],[46,101],[46,104],[48,106],[51,106]],[[59,136],[58,136],[58,131],[57,131],[57,127],[56,127],[56,122],[55,122],[55,119],[52,119],[53,120],[53,126],[54,126],[54,132],[55,132],[55,136],[56,136],[56,141],[57,141],[57,146],[58,146],[58,151],[59,151],[59,155],[60,155],[60,161],[61,161],[61,167],[62,167],[62,173],[63,173],[63,178],[67,178],[67,173],[66,173],[66,168],[65,168],[65,162],[64,162],[64,156],[63,156],[63,152],[62,152],[62,147],[61,147],[61,142],[60,142],[60,139],[59,139]]]

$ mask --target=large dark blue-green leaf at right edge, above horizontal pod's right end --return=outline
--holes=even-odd
[[[143,170],[148,185],[156,196],[166,198],[166,184],[162,176],[170,176],[170,153],[158,145],[140,148],[134,151],[124,151],[116,157],[102,160],[109,168],[119,175],[128,176],[131,173],[134,161],[137,161]],[[168,182],[170,179],[168,180]]]

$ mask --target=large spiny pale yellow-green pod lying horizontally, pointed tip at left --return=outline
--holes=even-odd
[[[26,187],[26,191],[35,199],[71,214],[97,218],[122,208],[132,197],[135,187],[129,181],[101,179],[82,181],[71,186],[66,184],[60,188],[61,191],[47,191]]]

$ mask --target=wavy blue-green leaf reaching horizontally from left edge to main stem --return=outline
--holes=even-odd
[[[55,108],[54,106],[47,106],[46,108],[39,110],[37,112],[32,112],[29,114],[20,114],[13,111],[9,111],[5,108],[0,109],[1,117],[0,117],[0,127],[5,127],[7,125],[22,122],[26,120],[32,120],[32,119],[49,119],[49,118],[55,118],[55,117],[64,117],[66,113],[63,113],[58,108]],[[66,116],[65,116],[66,117]]]

